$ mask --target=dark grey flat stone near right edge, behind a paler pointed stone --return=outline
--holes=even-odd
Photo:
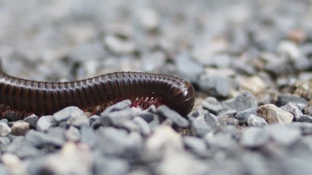
[[[277,97],[277,100],[275,104],[277,106],[284,106],[289,102],[293,102],[298,105],[300,110],[303,110],[303,108],[307,105],[307,101],[304,98],[294,96],[294,95],[289,95],[289,94],[279,94]]]

